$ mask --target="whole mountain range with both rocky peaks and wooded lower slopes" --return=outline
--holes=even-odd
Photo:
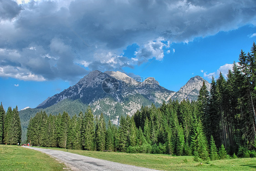
[[[46,111],[57,115],[67,111],[70,116],[85,112],[91,106],[93,114],[103,113],[105,119],[118,124],[120,116],[132,116],[141,106],[160,106],[163,101],[197,100],[204,79],[200,76],[191,78],[178,92],[169,91],[159,85],[153,77],[131,78],[120,71],[101,72],[94,70],[85,75],[77,84],[48,97],[35,109],[20,111],[22,141],[26,140],[26,128],[29,119],[36,112]],[[205,81],[210,90],[210,84]]]

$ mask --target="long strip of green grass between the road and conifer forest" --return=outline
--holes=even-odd
[[[45,148],[45,147],[41,147]],[[118,163],[147,167],[166,171],[255,171],[256,158],[228,159],[210,161],[201,165],[193,161],[193,156],[169,156],[160,154],[128,154],[119,152],[67,150],[61,148],[46,148],[67,151],[83,156],[115,161]]]

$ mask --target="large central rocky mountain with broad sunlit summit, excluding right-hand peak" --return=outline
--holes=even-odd
[[[143,79],[140,79],[143,80]],[[96,114],[105,113],[110,119],[122,114],[133,115],[141,105],[156,106],[169,101],[174,91],[159,85],[153,77],[143,82],[134,80],[120,71],[94,70],[77,84],[43,101],[36,108],[45,109],[68,99],[90,105]]]

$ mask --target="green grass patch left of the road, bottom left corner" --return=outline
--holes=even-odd
[[[0,145],[0,171],[63,171],[65,167],[40,151]]]

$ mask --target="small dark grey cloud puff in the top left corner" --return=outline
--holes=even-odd
[[[0,20],[10,20],[20,13],[21,7],[13,0],[0,0]]]

